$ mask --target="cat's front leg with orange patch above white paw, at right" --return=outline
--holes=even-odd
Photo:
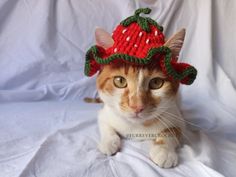
[[[150,157],[162,168],[175,167],[178,164],[176,148],[179,145],[181,129],[170,128],[162,131],[150,148]]]

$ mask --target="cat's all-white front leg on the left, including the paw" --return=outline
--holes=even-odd
[[[115,130],[106,123],[100,122],[99,129],[101,141],[98,144],[98,149],[106,155],[115,154],[121,146],[121,140]]]

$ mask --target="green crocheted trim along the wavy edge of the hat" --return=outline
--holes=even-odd
[[[184,69],[184,71],[177,72],[172,64],[171,64],[171,50],[166,47],[166,46],[161,46],[158,48],[151,48],[147,56],[145,58],[138,58],[135,56],[130,56],[127,54],[121,54],[121,53],[115,53],[110,55],[107,58],[101,58],[99,55],[99,48],[98,46],[92,46],[86,53],[86,61],[85,61],[85,69],[84,73],[86,76],[92,76],[95,74],[97,71],[93,71],[94,73],[91,73],[91,61],[95,60],[95,62],[98,65],[107,65],[111,63],[112,61],[115,60],[123,60],[124,62],[131,63],[131,64],[136,64],[136,65],[147,65],[152,61],[152,58],[157,55],[157,54],[164,54],[164,67],[166,74],[173,78],[174,80],[179,80],[182,81],[181,83],[190,85],[193,83],[193,81],[196,78],[197,75],[197,70],[193,66],[188,66],[187,68]]]

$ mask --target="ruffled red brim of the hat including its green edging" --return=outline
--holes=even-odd
[[[117,60],[122,59],[124,63],[144,66],[153,61],[153,57],[161,54],[164,59],[160,60],[160,67],[170,79],[177,80],[182,84],[190,85],[197,76],[197,70],[187,64],[178,63],[172,59],[171,50],[166,46],[149,49],[146,57],[138,58],[122,53],[115,53],[108,57],[104,57],[106,50],[100,46],[92,46],[86,53],[86,61],[84,73],[87,76],[93,76],[100,70],[101,65],[106,65]],[[159,57],[162,58],[162,57]]]

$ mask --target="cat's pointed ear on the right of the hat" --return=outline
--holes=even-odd
[[[175,33],[170,37],[164,46],[169,47],[172,51],[172,55],[175,57],[179,56],[180,50],[184,43],[185,29],[181,29],[179,32]]]

